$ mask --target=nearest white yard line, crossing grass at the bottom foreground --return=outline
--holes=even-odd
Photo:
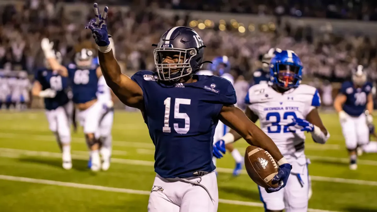
[[[15,177],[15,176],[9,176],[9,175],[0,175],[0,180],[18,181],[18,182],[36,183],[36,184],[45,184],[45,185],[54,185],[54,186],[63,186],[63,187],[72,187],[72,188],[80,188],[80,189],[101,190],[101,191],[117,192],[117,193],[124,193],[124,194],[139,194],[139,195],[149,195],[150,194],[150,191],[147,191],[147,190],[123,189],[123,188],[97,186],[97,185],[81,184],[81,183],[69,183],[69,182],[62,182],[62,181],[55,181],[55,180],[43,180],[43,179],[35,179],[35,178],[27,178],[27,177]],[[242,205],[242,206],[251,206],[251,207],[263,207],[262,203],[237,201],[237,200],[219,199],[219,203],[232,204],[232,205]],[[319,209],[308,209],[308,211],[309,212],[336,212],[336,211],[319,210]]]

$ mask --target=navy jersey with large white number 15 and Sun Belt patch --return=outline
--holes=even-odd
[[[156,147],[155,172],[164,178],[193,177],[215,169],[212,148],[219,113],[223,105],[236,103],[228,80],[193,77],[198,81],[166,85],[155,72],[132,76],[143,90],[143,117]]]

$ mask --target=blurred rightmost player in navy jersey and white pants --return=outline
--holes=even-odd
[[[352,71],[352,80],[345,81],[334,100],[349,153],[349,169],[356,170],[356,147],[369,141],[368,124],[373,123],[372,83],[367,81],[363,66]],[[365,115],[365,111],[367,111]]]

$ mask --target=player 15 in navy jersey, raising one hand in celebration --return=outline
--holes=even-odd
[[[234,107],[231,83],[221,77],[193,75],[203,63],[204,44],[191,28],[177,26],[160,38],[154,53],[156,72],[139,71],[127,77],[114,58],[106,17],[108,9],[87,23],[98,47],[106,83],[127,106],[141,110],[155,144],[156,177],[149,212],[215,212],[218,189],[212,162],[213,134],[219,120],[245,140],[270,152],[279,161],[277,189],[288,180],[291,165],[279,149],[241,109]]]

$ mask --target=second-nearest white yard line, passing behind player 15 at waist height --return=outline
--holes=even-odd
[[[61,154],[57,152],[40,152],[40,151],[29,151],[29,150],[22,150],[22,149],[0,148],[0,157],[17,158],[17,154],[18,154],[18,157],[21,157],[22,155],[28,155],[28,156],[61,158]],[[72,155],[72,158],[76,160],[88,160],[89,157],[86,155]],[[145,160],[111,158],[111,161],[113,163],[121,163],[121,164],[154,166],[153,161],[145,161]],[[233,173],[233,169],[229,169],[229,168],[217,167],[216,170],[222,173]],[[241,174],[247,174],[246,170],[242,170]],[[355,179],[322,177],[322,176],[313,176],[313,175],[311,175],[311,179],[313,181],[377,186],[377,181],[368,181],[368,180],[355,180]]]

